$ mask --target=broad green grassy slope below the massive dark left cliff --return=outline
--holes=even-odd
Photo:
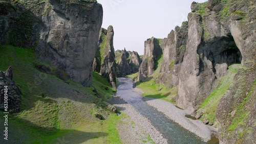
[[[123,114],[116,116],[106,111],[92,88],[40,73],[33,66],[37,61],[32,50],[1,45],[0,53],[0,70],[5,71],[12,65],[13,79],[22,91],[22,112],[9,115],[9,142],[120,143],[116,124],[120,123],[118,119]],[[104,95],[104,99],[111,97],[112,89],[108,83],[97,73],[93,76],[98,93]],[[107,92],[106,87],[109,87]],[[95,118],[96,112],[106,120]],[[4,121],[2,114],[1,124]],[[0,128],[3,129],[3,125]]]

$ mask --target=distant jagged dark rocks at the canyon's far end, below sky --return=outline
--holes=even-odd
[[[135,74],[139,71],[140,64],[142,62],[137,52],[131,52],[124,50],[117,50],[116,52],[117,64],[117,76],[124,77],[126,75]]]

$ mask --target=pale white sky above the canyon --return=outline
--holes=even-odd
[[[148,38],[165,38],[176,26],[181,26],[191,12],[193,1],[206,0],[97,0],[103,7],[102,28],[114,28],[114,48],[144,53]]]

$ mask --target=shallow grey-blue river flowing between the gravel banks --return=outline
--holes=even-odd
[[[148,106],[142,100],[142,95],[133,91],[134,83],[129,78],[118,78],[116,95],[131,104],[140,114],[147,117],[151,124],[167,139],[168,143],[218,143],[203,142],[197,135],[182,128],[179,124],[167,118],[162,112]]]

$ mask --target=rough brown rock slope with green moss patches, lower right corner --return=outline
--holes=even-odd
[[[217,108],[223,143],[253,143],[256,140],[256,65],[239,69]]]

